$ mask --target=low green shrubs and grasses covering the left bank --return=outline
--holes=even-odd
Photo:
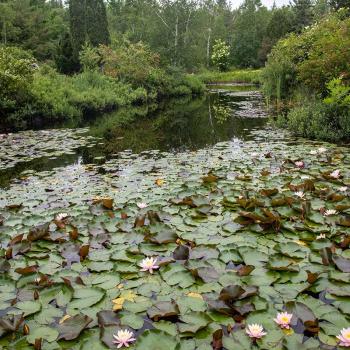
[[[47,125],[204,91],[196,76],[160,67],[152,57],[141,65],[140,54],[128,55],[128,60],[134,58],[132,64],[113,61],[110,51],[97,54],[96,64],[89,62],[82,72],[64,75],[37,63],[29,52],[0,47],[0,86],[5,86],[0,91],[2,128],[24,129],[33,122]]]

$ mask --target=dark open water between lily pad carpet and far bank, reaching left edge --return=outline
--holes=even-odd
[[[33,171],[46,171],[74,163],[103,162],[124,150],[132,153],[148,150],[183,152],[234,138],[245,140],[249,138],[249,131],[262,128],[266,121],[263,97],[256,86],[211,85],[208,92],[199,98],[178,98],[160,104],[132,106],[90,120],[51,126],[53,129],[47,130],[47,134],[52,135],[53,149],[43,156],[35,154],[35,150],[31,152],[32,143],[35,144],[35,138],[38,142],[41,140],[42,131],[13,134],[11,137],[16,138],[15,141],[3,145],[3,150],[10,151],[10,155],[1,158],[0,154],[0,186],[7,186],[11,180]],[[77,128],[86,128],[85,135],[99,140],[90,147],[78,144],[74,149],[65,151],[64,134],[56,141],[57,135],[63,130]],[[32,140],[29,145],[22,141],[25,138]],[[0,138],[0,152],[2,142],[4,139]],[[21,149],[27,149],[29,154],[24,157]],[[4,169],[1,161],[4,164],[4,159],[9,156],[14,159],[14,164]]]

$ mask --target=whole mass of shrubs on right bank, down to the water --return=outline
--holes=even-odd
[[[281,40],[263,72],[270,99],[289,102],[279,118],[309,138],[350,138],[350,18],[345,9]]]

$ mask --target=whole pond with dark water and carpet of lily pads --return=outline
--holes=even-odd
[[[335,349],[349,325],[348,148],[273,128],[256,88],[5,135],[0,158],[5,349]]]

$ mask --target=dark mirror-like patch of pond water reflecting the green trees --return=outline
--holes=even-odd
[[[151,112],[140,107],[124,109],[96,121],[91,133],[105,140],[106,155],[125,149],[134,153],[194,150],[234,137],[246,139],[247,130],[266,123],[261,118],[265,116],[261,94],[251,89],[218,87],[201,98],[167,101]]]

